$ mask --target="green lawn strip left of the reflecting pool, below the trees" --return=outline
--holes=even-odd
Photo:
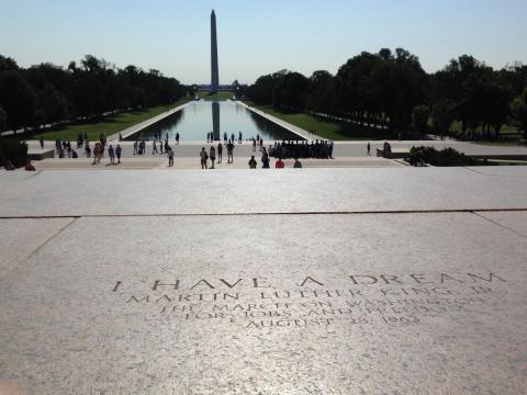
[[[178,105],[181,105],[186,102],[187,100],[181,100],[171,105],[159,105],[159,106],[133,111],[128,113],[110,115],[110,116],[105,116],[104,119],[98,122],[78,123],[78,124],[58,126],[57,128],[53,128],[49,131],[32,133],[26,138],[37,139],[41,136],[44,136],[44,139],[47,139],[47,140],[55,140],[57,138],[60,138],[60,139],[69,139],[75,142],[77,140],[77,136],[79,135],[79,133],[82,133],[82,135],[87,133],[88,138],[90,140],[99,139],[99,136],[101,133],[104,133],[106,136],[110,136],[130,126],[136,125],[143,121],[146,121],[150,117],[162,114],[164,112],[170,109],[173,109]]]

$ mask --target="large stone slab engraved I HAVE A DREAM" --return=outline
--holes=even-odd
[[[0,388],[520,394],[527,239],[495,222],[78,218],[0,280]]]

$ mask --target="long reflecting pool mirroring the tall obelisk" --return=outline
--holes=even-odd
[[[302,139],[283,127],[253,113],[236,102],[193,102],[173,115],[150,125],[149,127],[130,136],[127,139],[165,139],[168,134],[170,140],[176,139],[179,133],[182,142],[203,142],[206,134],[213,132],[215,140],[223,140],[224,133],[228,138],[234,134],[243,133],[244,139],[260,135],[264,140]]]

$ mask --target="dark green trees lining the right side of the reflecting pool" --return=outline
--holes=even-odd
[[[455,123],[468,139],[498,138],[505,124],[527,133],[527,66],[494,70],[469,55],[427,74],[405,49],[363,52],[335,76],[281,70],[259,77],[244,94],[279,110],[346,119],[392,134],[447,135]]]

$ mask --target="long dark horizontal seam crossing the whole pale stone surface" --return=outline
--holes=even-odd
[[[452,208],[452,210],[399,210],[399,211],[313,211],[313,212],[258,212],[258,213],[147,213],[147,214],[74,214],[74,215],[19,215],[0,216],[0,219],[53,219],[53,218],[101,218],[101,217],[181,217],[181,216],[265,216],[265,215],[372,215],[372,214],[441,214],[441,213],[493,213],[527,212],[525,208]]]

